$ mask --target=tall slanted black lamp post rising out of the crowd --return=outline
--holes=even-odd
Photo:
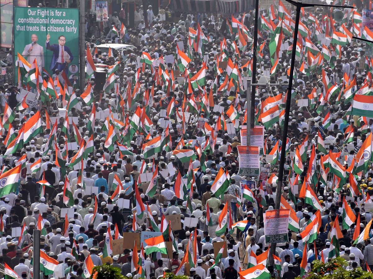
[[[286,139],[288,137],[288,125],[289,125],[289,112],[290,112],[290,103],[291,103],[291,89],[293,86],[293,74],[294,74],[294,62],[295,62],[295,50],[297,49],[297,38],[298,38],[298,26],[300,20],[300,13],[302,2],[295,2],[297,6],[297,15],[295,16],[295,27],[294,27],[294,40],[293,40],[293,49],[291,52],[291,64],[290,64],[290,77],[289,77],[289,86],[288,86],[288,95],[286,97],[286,107],[285,107],[285,115],[283,121],[283,133],[282,133],[282,145],[281,145],[281,158],[280,158],[280,165],[279,165],[279,172],[278,176],[278,183],[276,189],[276,201],[275,201],[275,209],[280,209],[280,201],[281,201],[281,190],[282,190],[282,179],[283,179],[283,167],[285,165],[285,151],[286,151]],[[276,251],[276,243],[272,243],[270,247],[270,254],[275,254]],[[269,258],[270,262],[269,265],[273,265],[273,257]]]

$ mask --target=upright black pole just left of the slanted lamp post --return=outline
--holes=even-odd
[[[255,92],[256,87],[253,85],[256,83],[256,74],[257,74],[257,56],[258,56],[258,17],[259,17],[259,0],[255,0],[255,18],[254,18],[254,36],[253,36],[253,71],[251,75],[251,109],[250,109],[250,125],[254,128],[255,121]],[[250,137],[250,129],[247,129],[247,135]],[[248,143],[250,141],[247,141]],[[249,145],[249,144],[247,144]]]

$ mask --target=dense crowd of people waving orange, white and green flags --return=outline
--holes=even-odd
[[[159,8],[154,15],[136,7],[134,28],[113,12],[104,38],[87,20],[85,88],[59,72],[40,73],[44,83],[33,86],[22,70],[20,84],[0,87],[1,273],[35,276],[35,242],[44,279],[88,278],[102,265],[129,278],[294,279],[314,260],[335,257],[347,270],[371,270],[373,115],[364,112],[369,101],[359,112],[352,103],[371,95],[373,60],[370,43],[352,38],[369,35],[358,10],[302,10],[287,93],[294,8],[260,8],[257,34],[254,11],[185,13],[172,22],[169,8]],[[253,36],[258,78],[279,85],[256,88],[260,175],[250,176],[239,154]],[[97,50],[106,43],[131,46],[109,56]],[[107,71],[103,88],[96,67]],[[22,88],[38,104],[27,105]],[[288,235],[270,254],[264,227],[276,195],[289,212]],[[115,254],[119,239],[127,248]]]

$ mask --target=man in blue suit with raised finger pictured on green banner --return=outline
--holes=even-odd
[[[58,37],[58,45],[51,45],[49,43],[50,35],[47,35],[46,48],[53,51],[52,60],[50,62],[49,69],[54,73],[56,69],[60,72],[65,71],[68,73],[69,63],[74,59],[70,48],[65,46],[66,38],[61,35]]]

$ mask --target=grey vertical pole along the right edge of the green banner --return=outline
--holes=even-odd
[[[79,89],[85,87],[85,0],[80,1],[79,7]]]

